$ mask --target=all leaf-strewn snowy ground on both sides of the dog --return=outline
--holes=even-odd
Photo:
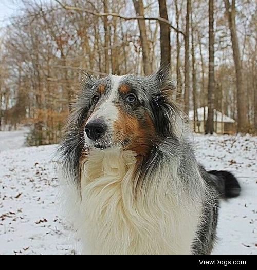
[[[0,132],[0,254],[76,254],[58,214],[56,146],[17,149],[15,138]],[[222,202],[214,254],[257,254],[257,137],[195,135],[195,144],[201,163],[242,185],[240,197]]]

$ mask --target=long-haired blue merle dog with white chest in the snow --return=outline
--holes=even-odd
[[[211,254],[232,173],[195,158],[168,68],[140,78],[85,74],[59,148],[83,254]]]

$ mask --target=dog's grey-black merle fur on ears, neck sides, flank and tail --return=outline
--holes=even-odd
[[[153,138],[149,155],[144,157],[138,166],[138,171],[135,172],[138,181],[140,181],[138,186],[140,188],[147,186],[147,179],[155,168],[171,159],[177,160],[179,176],[184,181],[183,187],[188,192],[197,192],[197,173],[200,172],[201,177],[205,180],[207,192],[204,198],[201,198],[203,200],[203,215],[192,250],[194,254],[211,254],[216,240],[219,198],[238,196],[240,186],[237,180],[231,173],[207,172],[203,166],[197,163],[190,141],[183,136],[183,132],[186,132],[185,120],[177,106],[169,99],[171,90],[174,90],[174,85],[169,79],[167,69],[161,69],[156,74],[145,78],[128,75],[124,77],[123,82],[133,87],[140,102],[137,107],[126,107],[124,109],[141,119],[142,124],[144,123],[144,116],[141,112],[147,110],[151,114],[158,132],[158,137]],[[85,74],[82,94],[74,104],[67,124],[66,136],[60,146],[62,171],[65,178],[68,181],[74,181],[78,189],[80,186],[80,158],[82,152],[87,151],[83,123],[94,110],[90,100],[95,89],[102,83],[109,87],[112,85],[112,81],[108,77],[96,79],[89,74]],[[106,92],[107,95],[108,92]],[[119,101],[117,100],[117,102]],[[180,133],[175,130],[177,117],[180,118],[182,123]],[[123,147],[122,143],[117,142],[117,144],[121,144],[120,147]],[[227,181],[229,181],[228,185],[226,184]],[[191,197],[191,195],[189,196]],[[193,194],[192,197],[198,198],[197,194]]]

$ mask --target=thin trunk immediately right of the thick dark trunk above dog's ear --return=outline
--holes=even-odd
[[[179,10],[178,10],[178,3],[175,0],[175,7],[176,7],[176,27],[179,29]],[[177,73],[177,92],[176,92],[176,100],[182,99],[182,85],[181,85],[181,72],[180,72],[180,41],[179,41],[179,33],[176,33],[176,45],[177,45],[177,63],[176,63],[176,73]]]

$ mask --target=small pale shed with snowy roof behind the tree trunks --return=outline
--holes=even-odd
[[[205,133],[205,121],[208,118],[208,107],[197,109],[198,122],[196,123],[196,132]],[[189,111],[190,127],[194,129],[194,111]],[[235,134],[235,120],[214,109],[214,132],[217,134]]]

